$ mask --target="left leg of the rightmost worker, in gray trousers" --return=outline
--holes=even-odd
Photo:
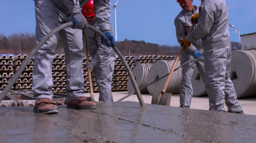
[[[204,50],[205,85],[209,96],[209,110],[225,111],[224,88],[227,65],[225,47]]]

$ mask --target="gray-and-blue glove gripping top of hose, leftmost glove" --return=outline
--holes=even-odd
[[[77,28],[77,29],[86,29],[88,28],[88,23],[85,19],[85,17],[82,15],[82,13],[76,13],[72,16],[73,23],[74,25],[72,28]]]

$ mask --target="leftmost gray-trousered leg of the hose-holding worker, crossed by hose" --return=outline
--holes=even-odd
[[[49,32],[58,27],[59,16],[52,1],[35,1],[36,40],[40,42]],[[43,44],[34,56],[33,85],[34,98],[52,99],[52,61],[55,57],[58,33]]]

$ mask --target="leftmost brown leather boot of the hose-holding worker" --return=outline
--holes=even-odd
[[[49,98],[39,98],[36,100],[34,112],[41,114],[57,114],[58,108],[54,102]]]

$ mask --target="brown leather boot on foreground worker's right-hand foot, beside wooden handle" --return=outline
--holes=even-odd
[[[85,96],[80,96],[74,100],[67,102],[67,108],[73,109],[94,109],[96,108],[96,103],[88,101]]]

